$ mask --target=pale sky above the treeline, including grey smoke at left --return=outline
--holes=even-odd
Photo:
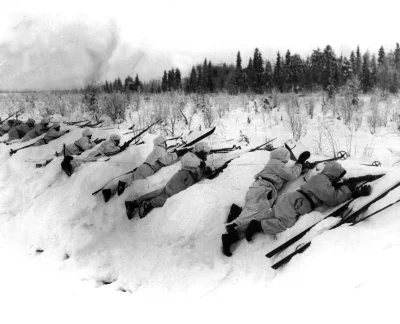
[[[306,56],[376,53],[399,41],[395,1],[0,0],[0,88],[62,87],[139,74],[183,75],[204,58],[244,65],[258,47]],[[6,86],[4,85],[6,84]]]

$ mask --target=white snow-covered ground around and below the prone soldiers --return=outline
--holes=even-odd
[[[232,146],[242,130],[250,138],[248,148],[274,137],[278,137],[273,142],[277,147],[292,135],[279,122],[285,116],[283,109],[274,111],[274,116],[263,123],[251,114],[248,124],[247,114],[236,109],[217,123],[207,140],[213,147]],[[347,151],[348,129],[336,120],[331,124],[338,148]],[[302,138],[312,153],[316,152],[317,125],[309,120]],[[243,205],[253,176],[269,152],[245,153],[216,179],[203,180],[146,218],[129,221],[125,198],[162,187],[179,169],[179,162],[138,181],[105,204],[101,193],[93,196],[92,192],[141,164],[156,134],[145,135],[144,145],[132,146],[109,162],[82,166],[71,177],[61,170],[61,157],[36,169],[29,159],[47,158],[60,151],[63,143],[80,137],[82,129],[68,128],[71,132],[61,139],[11,157],[10,146],[0,144],[0,319],[6,319],[2,322],[398,322],[400,204],[354,227],[324,232],[305,253],[274,271],[270,267],[274,259],[265,254],[277,242],[267,236],[240,242],[231,258],[221,253],[229,208],[232,203]],[[126,128],[115,132],[122,135]],[[93,138],[112,132],[94,130]],[[352,138],[352,157],[342,162],[347,176],[388,172],[376,181],[373,195],[400,181],[399,164],[394,164],[396,157],[400,159],[396,155],[400,140],[388,133],[379,129],[372,137],[361,128]],[[235,141],[223,142],[232,138]],[[122,142],[126,139],[129,135]],[[363,154],[372,141],[373,149]],[[25,144],[30,142],[11,147]],[[221,165],[245,149],[211,156],[209,163]],[[329,152],[321,153],[326,156],[312,154],[310,160],[329,157]],[[360,165],[374,160],[382,167]],[[399,196],[400,189],[393,191],[367,214]],[[285,241],[320,217],[319,212],[305,215],[278,235],[277,241]],[[320,227],[335,221],[327,219]]]

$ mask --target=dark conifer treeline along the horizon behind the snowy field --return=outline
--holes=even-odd
[[[349,80],[358,84],[360,90],[369,92],[375,87],[384,92],[397,93],[400,87],[400,46],[385,52],[383,46],[378,55],[368,51],[361,53],[357,47],[349,57],[337,56],[330,45],[323,50],[313,50],[302,58],[287,50],[284,56],[277,53],[274,61],[263,58],[256,48],[244,67],[240,52],[236,65],[222,63],[213,65],[204,60],[193,66],[189,75],[182,78],[178,68],[164,71],[160,80],[142,83],[128,76],[124,83],[118,78],[101,85],[105,92],[144,91],[160,93],[185,91],[186,93],[228,92],[238,94],[253,92],[262,94],[276,89],[280,92],[326,90],[329,94],[345,85]]]

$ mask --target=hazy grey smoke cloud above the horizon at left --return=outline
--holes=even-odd
[[[25,18],[0,41],[0,89],[71,89],[102,80],[119,45],[114,21]]]

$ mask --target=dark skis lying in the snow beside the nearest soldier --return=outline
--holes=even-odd
[[[375,179],[376,180],[376,179]],[[365,181],[363,184],[367,183],[368,181]],[[328,218],[328,217],[333,217],[333,216],[342,216],[342,220],[337,223],[336,225],[330,227],[328,230],[332,230],[335,229],[343,224],[346,223],[351,223],[350,226],[354,226],[355,224],[358,224],[376,214],[378,214],[379,212],[381,212],[382,210],[385,210],[391,206],[393,206],[394,204],[398,203],[400,201],[397,200],[395,202],[393,202],[392,204],[389,204],[383,208],[381,208],[380,210],[375,211],[374,213],[365,216],[359,220],[357,220],[357,218],[364,213],[365,211],[368,210],[368,208],[373,205],[374,203],[376,203],[377,201],[379,201],[380,199],[384,198],[389,192],[393,191],[394,189],[398,188],[400,186],[400,182],[392,185],[390,188],[386,189],[383,193],[381,193],[379,196],[377,196],[376,198],[372,199],[371,201],[369,201],[368,203],[366,203],[365,205],[363,205],[359,210],[355,211],[355,212],[349,212],[348,211],[348,206],[350,205],[350,203],[352,203],[354,201],[354,199],[350,199],[347,202],[342,203],[341,205],[337,206],[337,208],[335,208],[334,211],[330,211],[329,214],[327,214],[326,216],[324,216],[320,221],[318,221],[317,223],[315,223],[314,225],[308,227],[307,229],[305,229],[304,231],[300,232],[299,234],[297,234],[296,236],[292,237],[291,239],[289,239],[288,241],[286,241],[285,243],[281,244],[280,246],[276,247],[275,249],[273,249],[272,251],[270,251],[269,253],[266,254],[266,257],[271,258],[274,255],[282,252],[283,250],[287,249],[289,246],[293,245],[295,242],[299,241],[307,232],[309,232],[315,225],[317,225],[318,223],[320,223],[322,220]],[[347,213],[346,213],[347,212]],[[279,260],[278,262],[274,263],[272,265],[272,268],[277,270],[280,267],[282,267],[283,265],[285,265],[286,263],[288,263],[295,255],[303,253],[307,248],[309,248],[311,246],[311,240],[306,242],[306,243],[302,243],[300,245],[298,245],[296,247],[296,249],[286,255],[285,257],[283,257],[281,260]]]

